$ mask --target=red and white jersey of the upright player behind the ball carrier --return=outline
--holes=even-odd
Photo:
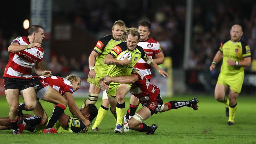
[[[140,41],[138,43],[139,46],[141,46],[146,54],[151,57],[152,59],[155,58],[155,54],[158,54],[162,51],[162,48],[156,40],[152,38],[148,38],[146,41]],[[151,66],[146,64],[146,62],[143,59],[140,59],[134,68],[137,68],[142,71],[142,73],[145,75],[147,79],[152,78],[152,73],[151,73]]]

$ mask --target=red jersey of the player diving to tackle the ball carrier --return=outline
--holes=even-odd
[[[159,88],[151,84],[140,70],[133,69],[132,74],[138,75],[139,80],[132,84],[130,93],[139,98],[139,102],[155,100],[159,95]]]

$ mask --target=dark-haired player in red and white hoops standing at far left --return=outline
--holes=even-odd
[[[32,66],[37,75],[45,77],[52,75],[51,71],[44,71],[42,68],[44,51],[41,44],[43,39],[43,27],[32,25],[28,29],[28,36],[17,37],[8,47],[10,55],[3,81],[6,100],[10,107],[9,120],[12,123],[13,134],[18,133],[17,122],[22,122],[22,112],[18,113],[19,93],[24,99],[27,111],[32,111],[36,107],[36,92],[31,78]],[[21,120],[18,121],[19,118]]]

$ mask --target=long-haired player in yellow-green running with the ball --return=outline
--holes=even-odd
[[[152,58],[147,56],[144,49],[137,44],[140,40],[140,33],[137,28],[125,28],[124,29],[127,38],[122,37],[122,40],[126,40],[117,46],[115,46],[104,59],[104,63],[110,65],[107,75],[110,77],[117,76],[129,76],[132,72],[133,66],[142,58],[147,64],[154,67],[164,77],[168,76],[168,73],[163,71]],[[124,60],[116,59],[123,51],[128,50],[131,53],[131,59],[128,60],[128,56]],[[120,65],[123,65],[120,67]],[[124,127],[122,126],[122,119],[125,110],[125,95],[129,92],[131,84],[121,84],[117,82],[109,83],[110,89],[107,91],[108,100],[111,109],[116,109],[117,122],[115,133],[123,133]]]

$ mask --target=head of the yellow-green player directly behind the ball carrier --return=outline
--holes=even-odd
[[[125,23],[122,20],[118,20],[113,24],[112,36],[115,40],[120,40],[124,34]]]

